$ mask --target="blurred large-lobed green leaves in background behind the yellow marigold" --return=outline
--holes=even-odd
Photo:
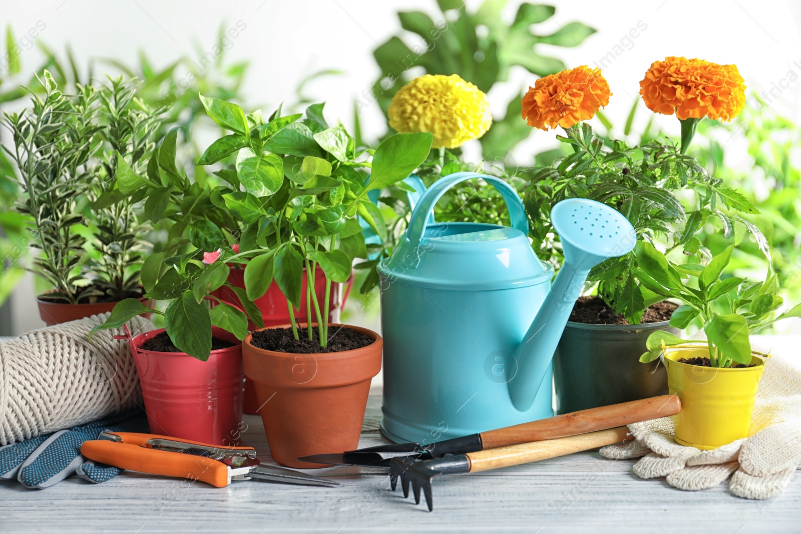
[[[595,33],[581,22],[569,22],[549,35],[535,33],[533,26],[553,18],[556,8],[524,2],[509,24],[502,16],[507,3],[485,0],[470,12],[461,0],[437,0],[437,22],[421,11],[399,12],[400,26],[422,38],[422,44],[410,46],[395,36],[373,52],[381,74],[372,93],[384,114],[400,87],[419,75],[410,72],[413,67],[427,74],[459,74],[487,93],[509,78],[513,66],[537,76],[566,68],[561,60],[539,54],[537,45],[579,46]],[[494,120],[480,139],[484,159],[505,158],[531,135],[531,128],[520,119],[521,109],[521,97],[515,97],[506,106],[505,117]]]

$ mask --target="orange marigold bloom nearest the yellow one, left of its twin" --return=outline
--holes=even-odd
[[[537,80],[523,96],[522,117],[540,130],[570,128],[609,104],[609,83],[600,69],[577,66]]]

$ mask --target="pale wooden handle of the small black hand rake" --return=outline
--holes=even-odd
[[[533,441],[528,444],[468,452],[465,456],[470,460],[471,473],[488,471],[489,469],[528,464],[537,460],[547,460],[548,458],[565,456],[574,452],[589,451],[593,448],[617,444],[621,441],[634,440],[634,436],[626,436],[627,432],[629,432],[629,429],[626,427],[610,428],[580,436],[568,436],[555,440]]]

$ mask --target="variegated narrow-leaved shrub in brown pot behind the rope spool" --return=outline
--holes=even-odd
[[[134,98],[135,79],[59,90],[50,72],[32,106],[5,114],[33,246],[34,271],[53,289],[38,296],[47,324],[111,311],[141,298],[145,228],[134,211],[133,169],[147,164],[161,110]]]

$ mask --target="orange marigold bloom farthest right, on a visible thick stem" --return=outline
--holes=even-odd
[[[702,59],[655,61],[640,82],[646,106],[656,113],[686,118],[735,118],[746,103],[746,86],[735,65]]]

